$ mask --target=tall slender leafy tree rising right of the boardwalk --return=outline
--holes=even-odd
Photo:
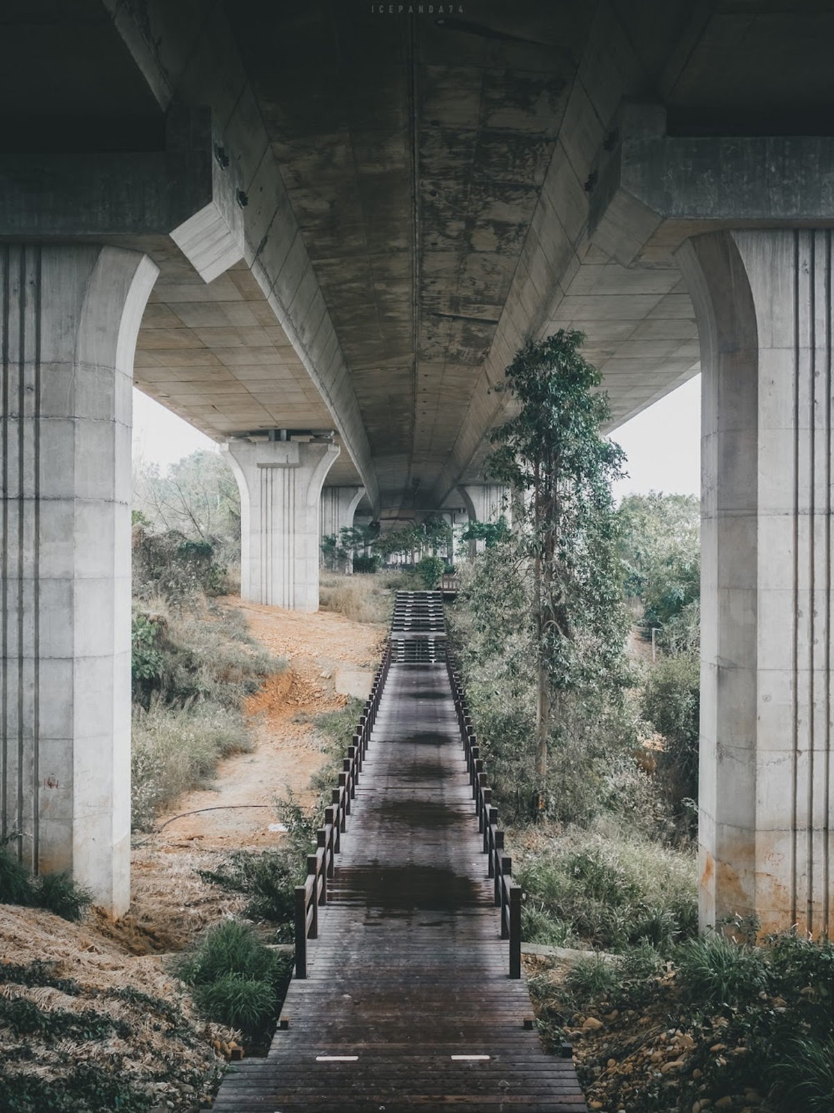
[[[506,370],[516,403],[492,439],[495,479],[522,496],[533,565],[537,651],[536,807],[545,806],[548,738],[563,693],[622,667],[624,611],[612,481],[623,450],[600,435],[609,417],[600,375],[579,353],[582,333],[528,342]],[[593,643],[594,651],[588,652]]]

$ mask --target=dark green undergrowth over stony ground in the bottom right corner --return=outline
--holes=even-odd
[[[590,1109],[830,1113],[834,946],[707,933],[530,978],[539,1028],[574,1044]],[[732,930],[731,925],[727,930]]]

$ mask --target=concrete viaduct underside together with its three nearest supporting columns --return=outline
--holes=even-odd
[[[131,372],[227,445],[247,591],[315,609],[321,523],[489,503],[495,385],[570,326],[613,427],[704,373],[703,920],[827,930],[834,9],[28,0],[1,20],[0,797],[21,858],[127,908]]]

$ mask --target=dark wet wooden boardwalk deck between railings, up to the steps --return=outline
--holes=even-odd
[[[525,1027],[486,861],[446,667],[393,664],[308,976],[216,1113],[584,1113],[573,1062]]]

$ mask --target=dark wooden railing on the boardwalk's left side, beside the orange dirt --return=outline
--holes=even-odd
[[[332,789],[331,802],[325,809],[325,826],[316,831],[316,853],[307,855],[307,879],[296,886],[296,977],[307,977],[307,940],[318,938],[319,905],[327,904],[327,883],[334,874],[335,856],[350,815],[350,801],[356,796],[356,782],[368,751],[383,689],[391,663],[390,646],[386,647],[370,688],[370,696],[359,717],[354,741],[342,761],[338,788]]]

